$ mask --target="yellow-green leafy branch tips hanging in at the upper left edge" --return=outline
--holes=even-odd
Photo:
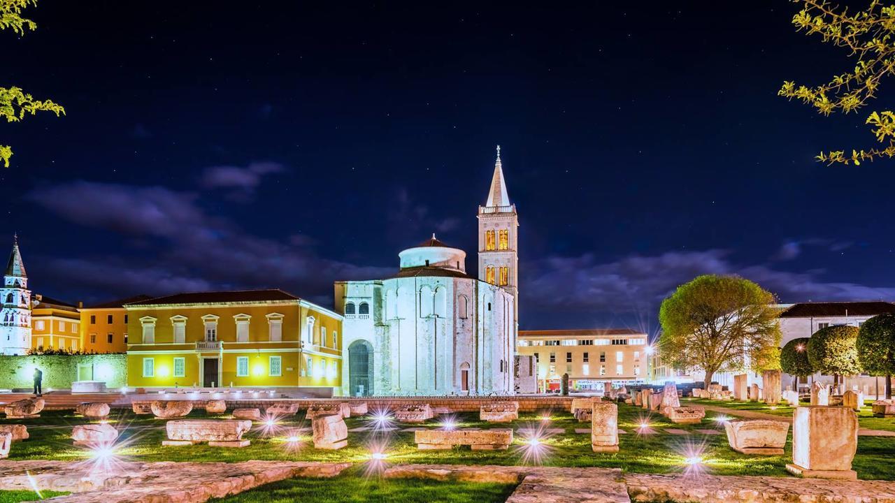
[[[0,30],[13,30],[20,36],[26,31],[36,30],[37,23],[21,17],[21,11],[28,5],[37,5],[38,0],[0,0]],[[7,123],[16,123],[25,115],[38,112],[53,112],[56,116],[65,115],[65,109],[49,99],[35,99],[20,88],[0,88],[0,117]],[[13,148],[0,145],[0,162],[9,167],[9,159],[13,157]]]

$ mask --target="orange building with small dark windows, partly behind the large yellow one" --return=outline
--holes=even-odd
[[[128,315],[126,303],[149,300],[149,295],[137,295],[108,303],[83,307],[81,311],[81,347],[86,353],[127,352]]]

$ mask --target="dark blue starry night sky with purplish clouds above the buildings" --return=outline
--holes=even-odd
[[[778,98],[853,64],[795,4],[299,4],[40,0],[0,32],[0,86],[67,111],[0,124],[0,248],[36,293],[331,306],[433,232],[474,270],[500,144],[521,328],[653,333],[700,273],[895,300],[895,161],[813,158],[872,146],[892,82],[859,115]]]

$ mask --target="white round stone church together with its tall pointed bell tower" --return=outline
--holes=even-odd
[[[519,224],[500,147],[478,220],[477,276],[466,272],[464,251],[432,234],[398,253],[391,277],[335,284],[343,395],[514,392]]]

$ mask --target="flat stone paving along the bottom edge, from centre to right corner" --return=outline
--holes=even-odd
[[[386,478],[516,483],[507,503],[895,503],[895,482],[796,477],[652,475],[614,468],[396,465]]]

